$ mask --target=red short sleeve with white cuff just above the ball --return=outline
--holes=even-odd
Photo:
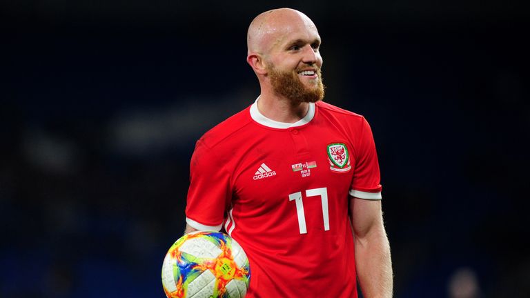
[[[214,150],[197,141],[190,162],[186,223],[197,230],[221,230],[232,190],[230,175]]]

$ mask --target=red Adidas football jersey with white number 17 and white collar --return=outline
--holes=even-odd
[[[357,297],[350,196],[381,199],[364,117],[317,102],[281,123],[256,101],[197,141],[186,222],[241,244],[248,298]]]

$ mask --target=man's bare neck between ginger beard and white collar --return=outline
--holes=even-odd
[[[309,110],[309,103],[293,104],[288,99],[259,95],[257,109],[268,119],[295,123],[304,118]]]

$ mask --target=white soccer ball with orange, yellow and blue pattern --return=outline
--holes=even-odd
[[[171,246],[162,265],[168,298],[242,298],[251,268],[241,246],[222,232],[191,232]]]

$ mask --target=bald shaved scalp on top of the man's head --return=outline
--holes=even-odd
[[[300,26],[317,30],[311,19],[291,8],[268,10],[259,14],[248,27],[246,35],[248,53],[266,54],[271,47],[281,41],[284,34],[292,31],[293,27]]]

